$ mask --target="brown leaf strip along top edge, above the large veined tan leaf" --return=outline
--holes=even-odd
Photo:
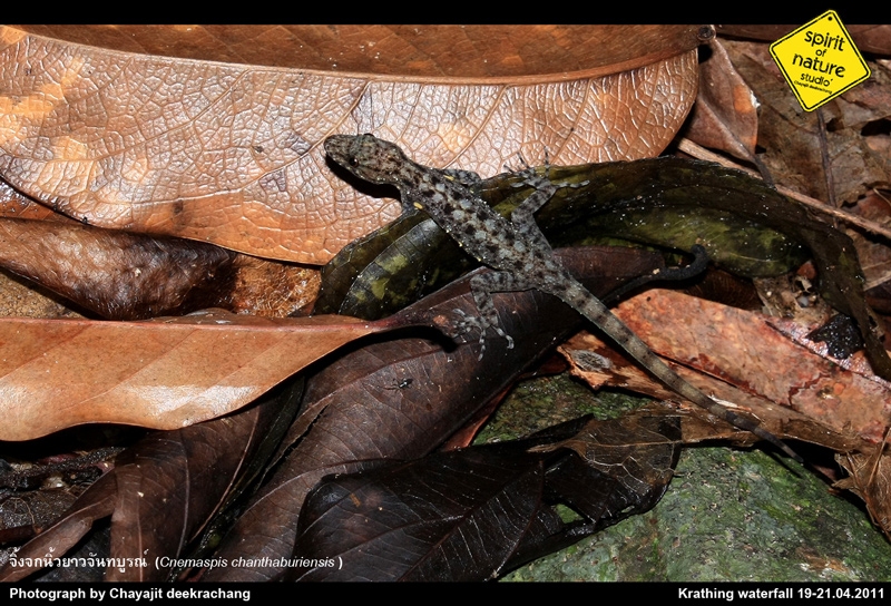
[[[505,78],[598,68],[600,76],[685,52],[701,26],[13,26],[143,55],[352,74]],[[498,60],[493,60],[498,59]]]

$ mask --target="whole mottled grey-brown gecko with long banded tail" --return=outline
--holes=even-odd
[[[547,176],[547,162],[544,176],[528,167],[520,173],[525,177],[522,185],[531,186],[533,193],[517,206],[508,221],[473,193],[470,185],[479,179],[473,173],[423,166],[405,156],[395,144],[373,135],[333,135],[325,139],[324,147],[329,158],[356,177],[395,186],[403,212],[412,207],[424,211],[464,251],[493,270],[473,276],[470,282],[479,311],[479,317],[473,321],[480,331],[481,352],[489,329],[507,340],[508,349],[513,346],[512,338],[499,326],[491,293],[538,290],[557,296],[585,316],[678,395],[803,462],[785,442],[756,421],[718,404],[684,380],[564,270],[535,221],[535,213],[559,188]],[[466,324],[467,320],[466,316]]]

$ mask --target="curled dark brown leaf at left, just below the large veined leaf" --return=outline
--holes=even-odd
[[[109,320],[207,307],[284,317],[309,306],[319,272],[183,238],[72,222],[0,219],[0,266]]]

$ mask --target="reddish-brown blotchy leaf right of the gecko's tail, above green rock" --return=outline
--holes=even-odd
[[[677,368],[682,377],[754,412],[770,431],[835,449],[862,448],[863,441],[878,442],[884,433],[891,390],[883,381],[845,370],[793,343],[761,314],[652,290],[619,305],[616,315],[653,351],[683,364]],[[587,353],[585,355],[589,356],[585,362],[589,366],[603,360],[599,349],[600,358]],[[576,363],[579,359],[578,352],[570,354]],[[606,365],[606,374],[617,372],[613,361],[601,365]],[[719,381],[711,381],[703,373]],[[645,381],[629,377],[621,369],[624,382],[619,384],[636,388]],[[664,389],[650,388],[647,392],[675,398]]]

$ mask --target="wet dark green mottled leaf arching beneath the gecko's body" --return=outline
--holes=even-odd
[[[855,319],[873,369],[891,379],[891,359],[871,331],[851,238],[761,180],[674,157],[551,167],[550,178],[575,185],[559,189],[537,215],[554,245],[607,236],[682,251],[698,243],[717,265],[748,277],[780,275],[812,257],[821,294]],[[476,187],[505,215],[531,193],[512,174]],[[472,265],[451,238],[422,217],[404,215],[383,233],[344,248],[325,267],[320,313],[380,317]]]

